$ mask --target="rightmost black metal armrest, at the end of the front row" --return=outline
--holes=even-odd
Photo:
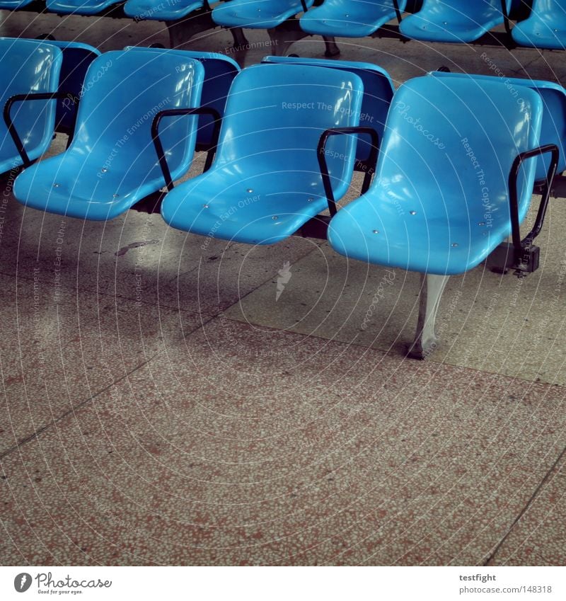
[[[519,223],[519,198],[517,193],[517,179],[519,178],[519,170],[521,165],[527,159],[532,159],[534,156],[542,156],[543,154],[552,154],[550,159],[550,166],[548,167],[548,173],[546,174],[545,185],[542,190],[541,204],[538,206],[538,213],[536,214],[536,220],[533,225],[533,229],[529,231],[524,239],[521,240],[521,224]],[[521,257],[523,255],[524,248],[529,247],[533,244],[533,240],[541,233],[543,228],[544,218],[546,210],[548,208],[548,200],[550,199],[550,190],[552,188],[553,180],[556,175],[558,168],[558,159],[560,158],[560,150],[556,144],[545,144],[532,150],[521,152],[519,156],[513,161],[511,172],[509,173],[509,203],[510,203],[510,214],[511,214],[511,231],[512,241],[514,248],[514,259],[516,269],[521,270]]]

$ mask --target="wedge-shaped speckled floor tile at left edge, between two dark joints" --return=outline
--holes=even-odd
[[[0,454],[201,324],[186,311],[67,288],[56,300],[39,280],[0,280],[1,302],[13,309],[0,340]]]

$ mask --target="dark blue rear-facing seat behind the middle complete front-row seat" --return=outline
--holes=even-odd
[[[359,76],[364,82],[364,100],[362,101],[362,115],[359,125],[373,127],[383,138],[383,127],[387,119],[387,112],[391,104],[391,98],[395,93],[393,81],[384,69],[369,62],[351,62],[341,60],[309,59],[303,57],[265,57],[262,63],[279,64],[311,64],[316,67],[327,67],[329,69],[342,69],[350,71]],[[371,147],[370,139],[366,135],[358,137],[356,159],[366,161],[369,158]]]

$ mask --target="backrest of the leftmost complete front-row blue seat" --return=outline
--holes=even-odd
[[[71,148],[96,153],[100,166],[112,157],[150,168],[157,161],[151,139],[154,117],[162,110],[197,106],[203,79],[202,64],[178,53],[105,52],[86,74]],[[196,125],[195,117],[186,116],[161,122],[171,171],[190,165]]]

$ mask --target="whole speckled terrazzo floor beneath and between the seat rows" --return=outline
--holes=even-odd
[[[102,50],[167,41],[160,23],[0,12],[2,35],[24,30]],[[509,75],[566,81],[556,52],[340,46],[396,83],[439,64],[487,72],[482,52]],[[10,198],[0,563],[564,565],[565,221],[553,200],[543,264],[520,287],[483,268],[452,278],[441,346],[415,362],[414,274],[395,274],[362,329],[383,273],[325,243],[202,248],[157,215],[84,224]]]

